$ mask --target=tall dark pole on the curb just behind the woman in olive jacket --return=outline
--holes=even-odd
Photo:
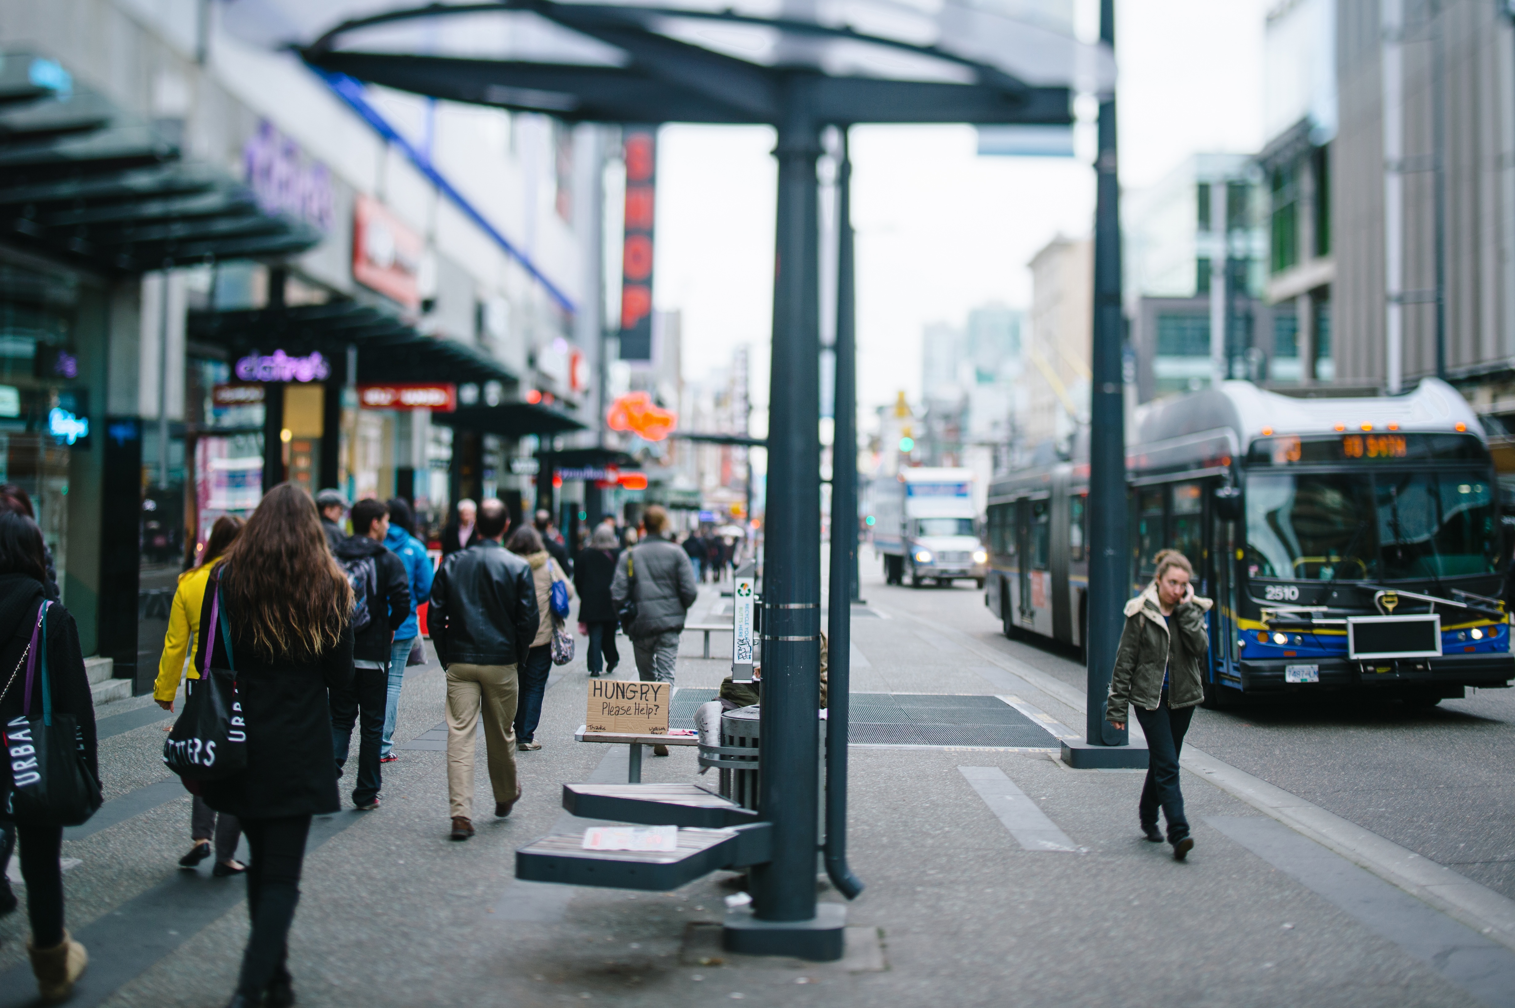
[[[1115,47],[1115,0],[1100,0],[1100,41]],[[1089,389],[1089,639],[1085,737],[1062,743],[1062,758],[1079,769],[1144,767],[1147,749],[1129,745],[1129,730],[1104,720],[1104,698],[1120,648],[1126,604],[1126,407],[1121,374],[1121,219],[1115,154],[1115,94],[1100,100],[1100,142],[1094,209],[1094,372]]]

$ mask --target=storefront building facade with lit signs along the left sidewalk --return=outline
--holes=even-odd
[[[283,480],[406,498],[420,534],[462,496],[520,515],[541,498],[520,460],[597,419],[615,138],[320,76],[218,12],[0,3],[12,97],[109,107],[136,144],[55,144],[74,192],[0,168],[42,186],[0,230],[0,427],[86,654],[138,692],[220,515]],[[111,230],[95,194],[136,216]]]

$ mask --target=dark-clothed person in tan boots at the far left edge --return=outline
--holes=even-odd
[[[11,743],[11,722],[36,717],[42,711],[39,693],[32,698],[30,710],[26,708],[23,666],[36,633],[36,640],[41,642],[38,648],[45,648],[53,713],[73,714],[85,763],[98,781],[94,698],[89,693],[85,658],[79,651],[79,628],[67,608],[48,601],[42,555],[42,531],[36,522],[15,512],[0,513],[0,675],[9,680],[6,686],[0,686],[5,690],[0,693],[0,725],[8,737],[6,748],[15,754],[23,743]],[[24,722],[21,726],[24,728]],[[0,760],[0,808],[11,808],[14,773],[12,761]],[[58,866],[64,829],[8,820],[0,825],[5,826],[0,837],[0,878],[5,878],[17,834],[21,840],[21,878],[26,879],[26,910],[32,919],[32,940],[26,949],[32,957],[36,987],[42,1000],[62,1000],[89,963],[85,947],[64,929],[64,876]],[[9,894],[9,885],[5,893]],[[15,905],[14,901],[11,905]]]

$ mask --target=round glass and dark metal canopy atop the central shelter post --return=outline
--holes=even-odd
[[[1076,85],[1110,79],[1107,51],[1071,32],[961,3],[311,0],[227,17],[326,73],[568,121],[779,124],[803,88],[823,123],[1060,126]]]

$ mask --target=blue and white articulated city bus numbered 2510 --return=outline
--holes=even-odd
[[[1204,696],[1376,690],[1418,705],[1515,677],[1500,498],[1479,418],[1444,381],[1298,398],[1223,381],[1136,410],[1126,450],[1139,593],[1159,549],[1215,599]],[[1006,636],[1088,636],[1088,442],[998,477],[985,604]]]

